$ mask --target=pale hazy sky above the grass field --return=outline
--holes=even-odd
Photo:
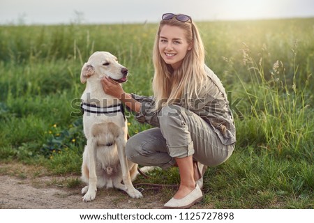
[[[144,23],[163,13],[195,21],[314,17],[314,0],[0,0],[0,24]]]

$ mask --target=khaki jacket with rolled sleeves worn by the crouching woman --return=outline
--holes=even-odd
[[[207,83],[204,83],[200,93],[202,96],[193,100],[192,103],[179,103],[178,105],[194,112],[209,123],[224,145],[234,144],[236,142],[236,130],[227,94],[215,73],[207,66],[205,66],[205,70],[209,78]],[[141,112],[135,115],[137,121],[158,127],[158,111],[155,110],[154,97],[131,95],[142,104]]]

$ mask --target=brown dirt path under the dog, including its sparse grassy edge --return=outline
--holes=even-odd
[[[142,199],[132,199],[124,192],[114,189],[98,190],[96,199],[82,201],[82,185],[68,187],[80,176],[49,176],[42,167],[22,164],[0,164],[1,209],[154,209],[163,208],[167,201],[164,193],[144,190]],[[205,208],[200,204],[193,208]]]

